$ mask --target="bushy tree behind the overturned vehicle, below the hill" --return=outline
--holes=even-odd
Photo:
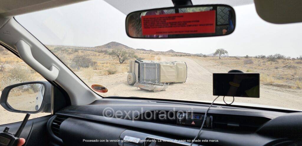
[[[117,59],[120,62],[120,64],[122,64],[126,60],[133,57],[134,53],[135,53],[134,50],[125,50],[119,48],[119,49],[112,49],[111,52],[109,52],[109,55],[111,55],[113,59]]]

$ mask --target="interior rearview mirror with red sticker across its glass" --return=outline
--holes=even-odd
[[[235,11],[228,5],[193,5],[135,11],[126,17],[131,38],[223,36],[235,30]]]

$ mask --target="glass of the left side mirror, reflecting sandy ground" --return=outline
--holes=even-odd
[[[13,109],[35,112],[40,109],[45,87],[43,84],[25,84],[12,88],[7,103]]]

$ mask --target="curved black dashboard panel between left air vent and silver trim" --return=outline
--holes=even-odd
[[[68,118],[60,126],[64,145],[108,145],[116,146],[117,140],[125,128],[83,119]],[[89,142],[86,140],[99,140]],[[108,140],[108,141],[106,141]],[[113,141],[110,141],[113,140]]]

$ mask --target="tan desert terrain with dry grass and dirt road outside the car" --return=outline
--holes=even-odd
[[[98,93],[103,97],[147,97],[173,100],[214,100],[212,91],[212,74],[226,73],[231,69],[244,72],[260,73],[260,98],[235,97],[235,103],[251,103],[267,106],[277,106],[302,110],[302,61],[301,59],[277,59],[269,61],[255,57],[222,57],[202,56],[189,53],[158,52],[145,49],[133,49],[117,42],[111,42],[96,47],[76,46],[47,46],[89,87],[92,84],[101,84],[108,88],[107,93]],[[135,57],[155,61],[182,61],[188,66],[185,83],[169,84],[165,91],[153,92],[141,90],[127,84],[126,77],[129,59],[120,63],[108,52],[114,48],[135,51]],[[0,48],[1,49],[1,48]],[[8,51],[0,50],[0,91],[4,87],[26,81],[45,81],[33,69],[28,67],[21,59]],[[80,61],[84,64],[78,64]],[[130,60],[131,60],[130,59]],[[83,97],[85,98],[85,97]],[[17,100],[18,99],[18,100]],[[21,100],[22,99],[22,100]],[[31,108],[31,100],[20,96],[14,100],[20,107]],[[231,101],[228,97],[226,101]],[[223,101],[222,98],[217,99]],[[30,103],[31,102],[31,103]],[[49,115],[50,113],[32,114],[30,119]],[[8,112],[0,106],[0,125],[18,122],[24,118],[23,113]]]

